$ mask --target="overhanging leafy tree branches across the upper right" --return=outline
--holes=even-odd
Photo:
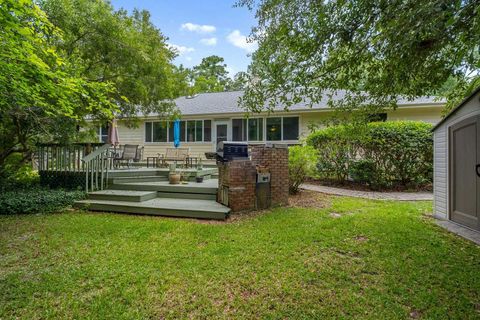
[[[394,107],[439,93],[450,102],[479,82],[478,0],[302,1],[239,0],[256,10],[252,86],[242,103],[260,111],[279,102],[313,104],[324,94],[348,90],[332,106]],[[367,94],[368,93],[368,96]]]

